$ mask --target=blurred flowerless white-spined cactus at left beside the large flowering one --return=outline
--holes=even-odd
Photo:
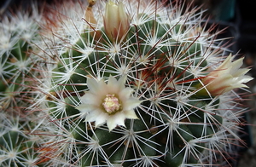
[[[0,23],[0,166],[32,166],[38,159],[38,135],[26,117],[31,105],[30,78],[38,57],[33,56],[33,43],[41,37],[33,10],[5,15]]]

